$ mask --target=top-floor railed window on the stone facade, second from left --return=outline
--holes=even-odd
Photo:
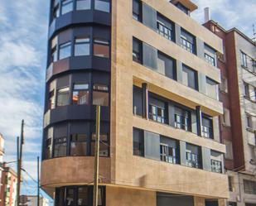
[[[157,13],[157,32],[167,38],[174,41],[174,24],[166,17]]]

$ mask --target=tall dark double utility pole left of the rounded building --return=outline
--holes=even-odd
[[[21,195],[21,176],[22,176],[22,147],[24,144],[24,120],[22,119],[22,132],[21,141],[18,138],[17,147],[17,160],[18,160],[18,170],[17,170],[17,206],[20,205],[20,195]]]

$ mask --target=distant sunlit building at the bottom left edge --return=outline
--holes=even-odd
[[[5,167],[2,172],[1,206],[15,206],[17,199],[17,174],[10,167]]]

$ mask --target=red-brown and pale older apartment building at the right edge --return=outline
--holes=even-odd
[[[218,56],[218,67],[228,205],[256,206],[256,44],[236,28],[226,31],[213,21],[205,26],[223,40],[225,48],[225,55]]]

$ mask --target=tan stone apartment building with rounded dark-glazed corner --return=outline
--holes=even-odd
[[[174,5],[175,4],[175,5]],[[51,1],[41,185],[56,206],[224,206],[222,41],[189,0]]]

